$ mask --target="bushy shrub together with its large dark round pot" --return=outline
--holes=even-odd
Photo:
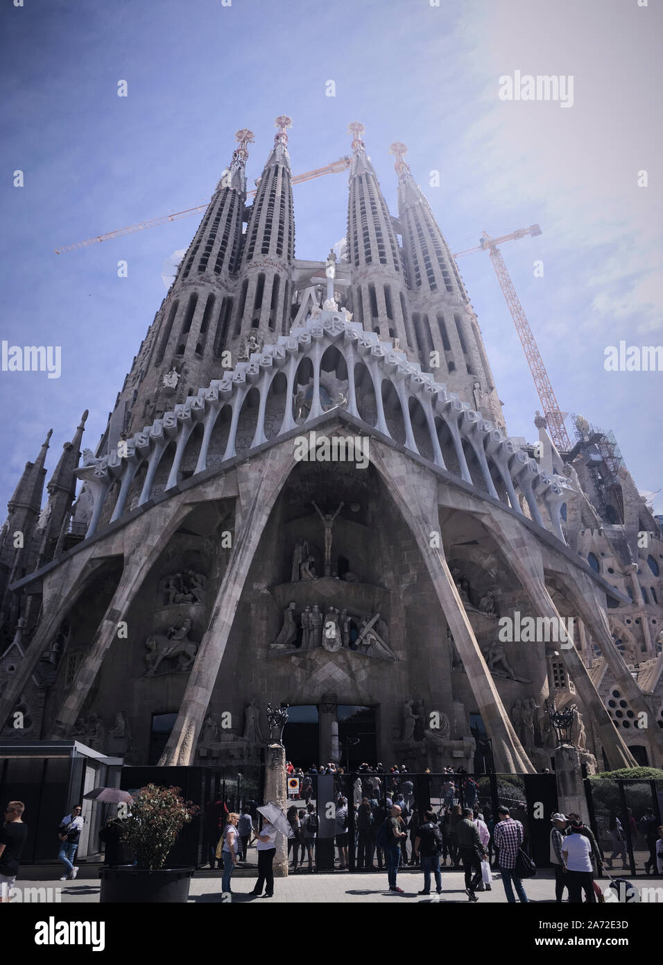
[[[179,787],[149,784],[138,792],[121,839],[136,855],[135,865],[99,869],[102,902],[186,902],[194,869],[166,865],[180,831],[198,813]]]

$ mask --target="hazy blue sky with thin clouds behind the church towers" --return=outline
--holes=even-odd
[[[538,222],[540,237],[503,255],[560,405],[612,428],[641,490],[659,489],[663,372],[605,372],[603,350],[663,344],[662,21],[656,0],[6,0],[0,338],[61,345],[63,371],[0,372],[0,501],[50,427],[52,470],[85,408],[94,448],[165,294],[164,261],[197,218],[54,249],[208,199],[239,127],[255,132],[256,178],[280,113],[294,120],[295,173],[349,153],[347,125],[362,121],[394,213],[387,150],[408,144],[455,251]],[[516,69],[572,74],[573,106],[500,100],[499,77]],[[295,188],[297,257],[325,257],[346,200],[340,174]],[[541,405],[491,262],[459,264],[509,431],[533,439]]]

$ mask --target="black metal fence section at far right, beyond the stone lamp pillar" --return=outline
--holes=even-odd
[[[605,867],[631,877],[656,873],[655,829],[663,815],[663,781],[587,778],[585,795],[590,823]],[[647,820],[648,809],[654,821]]]

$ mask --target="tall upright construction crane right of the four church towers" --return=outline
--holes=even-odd
[[[497,248],[497,245],[503,241],[513,241],[516,238],[524,237],[526,234],[531,235],[531,237],[536,237],[537,234],[541,233],[539,225],[520,228],[517,232],[502,234],[498,238],[491,238],[490,234],[484,232],[479,244],[475,248],[467,248],[466,251],[461,251],[457,255],[454,255],[454,258],[461,258],[463,255],[470,255],[475,251],[487,251],[491,256],[492,267],[495,269],[497,281],[499,282],[501,290],[504,292],[509,311],[516,324],[516,330],[520,337],[522,347],[525,350],[525,357],[530,372],[532,372],[539,399],[544,408],[544,416],[548,424],[550,438],[560,453],[568,453],[571,446],[569,433],[564,426],[564,415],[560,412],[560,407],[550,379],[548,378],[548,373],[545,371],[544,360],[541,357],[539,346],[532,334],[532,329],[529,327],[529,322],[516,294],[514,283],[509,276],[507,266],[502,258],[502,253]]]

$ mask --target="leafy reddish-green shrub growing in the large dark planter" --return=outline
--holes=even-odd
[[[180,797],[179,787],[141,787],[131,816],[122,822],[122,841],[136,854],[138,867],[163,868],[177,835],[199,812],[197,805]]]

